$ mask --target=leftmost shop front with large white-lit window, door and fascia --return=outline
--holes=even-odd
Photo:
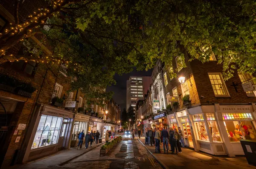
[[[73,112],[42,105],[29,140],[30,147],[26,150],[25,161],[67,149],[73,117]]]

